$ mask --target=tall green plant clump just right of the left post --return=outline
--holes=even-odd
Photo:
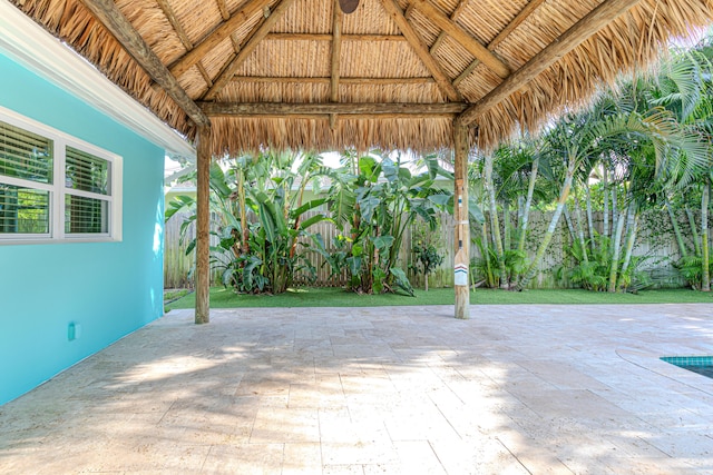
[[[324,214],[305,217],[326,198],[303,202],[305,188],[331,172],[310,154],[263,154],[235,157],[211,168],[211,210],[217,218],[211,230],[212,268],[223,285],[238,293],[283,293],[296,271],[314,275],[297,239],[310,236],[309,228],[329,220]],[[195,221],[195,200],[178,197],[166,211],[192,211],[182,225],[186,236]],[[193,251],[195,239],[186,254]]]

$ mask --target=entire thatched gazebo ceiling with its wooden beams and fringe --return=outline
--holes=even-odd
[[[707,0],[11,0],[213,151],[492,147],[580,103]]]

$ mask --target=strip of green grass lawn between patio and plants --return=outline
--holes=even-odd
[[[241,307],[377,307],[390,305],[453,305],[452,288],[416,290],[416,297],[402,294],[356,295],[339,288],[300,288],[282,295],[237,295],[232,289],[211,289],[211,308]],[[166,306],[194,308],[195,293]],[[713,304],[713,293],[688,289],[645,290],[638,294],[605,294],[588,290],[507,290],[478,289],[470,294],[472,305],[515,304]]]

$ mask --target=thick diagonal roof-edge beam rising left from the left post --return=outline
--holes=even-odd
[[[188,97],[176,78],[160,62],[144,38],[124,17],[113,0],[82,0],[84,4],[104,27],[124,46],[129,55],[144,68],[166,93],[180,107],[197,126],[209,126],[211,121]]]

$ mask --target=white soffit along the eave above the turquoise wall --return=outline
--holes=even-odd
[[[195,149],[175,130],[7,0],[0,0],[0,52],[163,147],[168,155],[195,161]]]

